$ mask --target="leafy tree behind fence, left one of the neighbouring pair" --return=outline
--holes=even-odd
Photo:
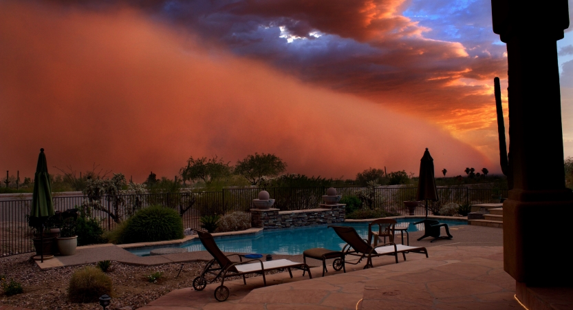
[[[206,157],[193,159],[191,156],[187,160],[187,166],[182,167],[179,173],[183,180],[191,180],[192,182],[203,180],[205,184],[209,184],[216,178],[230,174],[229,163],[225,163],[223,158],[218,158],[217,155],[210,159]]]

